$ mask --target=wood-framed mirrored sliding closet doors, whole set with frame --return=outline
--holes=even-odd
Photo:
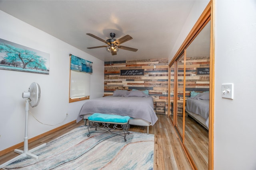
[[[213,169],[212,1],[169,64],[169,117],[193,169]],[[193,104],[196,100],[200,104]],[[203,106],[204,113],[191,107]],[[208,112],[208,113],[207,113]]]

